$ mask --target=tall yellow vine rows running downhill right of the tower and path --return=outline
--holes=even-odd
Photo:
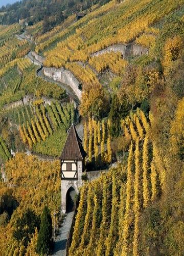
[[[165,184],[162,161],[149,137],[150,125],[138,109],[122,120],[130,145],[127,167],[112,168],[82,187],[70,255],[139,253],[141,211]]]

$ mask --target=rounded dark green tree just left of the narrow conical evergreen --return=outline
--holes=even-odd
[[[18,217],[13,231],[13,237],[18,242],[22,242],[26,247],[30,241],[31,234],[35,232],[35,228],[39,229],[40,218],[31,209],[27,209],[22,217]]]

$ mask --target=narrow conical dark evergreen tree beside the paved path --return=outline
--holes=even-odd
[[[47,206],[44,207],[41,214],[41,224],[37,240],[37,253],[46,254],[51,249],[52,238],[52,219]]]

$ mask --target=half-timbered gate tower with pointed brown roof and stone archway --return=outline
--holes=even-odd
[[[79,187],[82,186],[81,177],[84,171],[85,157],[82,141],[72,124],[59,158],[61,161],[61,211],[63,213],[68,211],[68,207],[69,211],[71,210],[70,203],[73,201],[74,191],[78,194]]]

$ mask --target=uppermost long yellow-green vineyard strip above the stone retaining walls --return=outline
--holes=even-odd
[[[172,1],[166,1],[160,5],[151,0],[137,1],[136,3],[126,1],[126,3],[120,6],[114,5],[114,1],[112,1],[93,13],[93,16],[96,17],[94,20],[87,22],[92,16],[89,14],[84,19],[63,30],[61,32],[62,36],[55,31],[56,35],[54,36],[57,36],[57,40],[61,42],[53,50],[47,52],[47,48],[44,49],[44,45],[47,47],[53,45],[54,38],[51,37],[49,40],[45,40],[42,44],[38,45],[36,51],[44,50],[47,57],[45,63],[48,66],[55,66],[52,60],[55,59],[53,56],[58,52],[59,56],[57,59],[64,65],[64,62],[69,60],[86,61],[91,53],[102,50],[110,45],[127,44],[136,37],[137,42],[142,44],[141,39],[138,39],[140,33],[144,30],[154,31],[154,29],[150,29],[151,25],[159,22],[162,17],[176,8],[177,4]],[[104,12],[107,12],[107,14],[102,15]],[[114,19],[116,19],[116,23]],[[110,24],[108,29],[106,28],[107,24]],[[76,30],[75,33],[73,28]],[[115,36],[113,35],[114,31],[118,31]],[[68,32],[72,35],[68,36]],[[52,36],[52,33],[50,34]],[[67,39],[65,39],[66,34]]]

